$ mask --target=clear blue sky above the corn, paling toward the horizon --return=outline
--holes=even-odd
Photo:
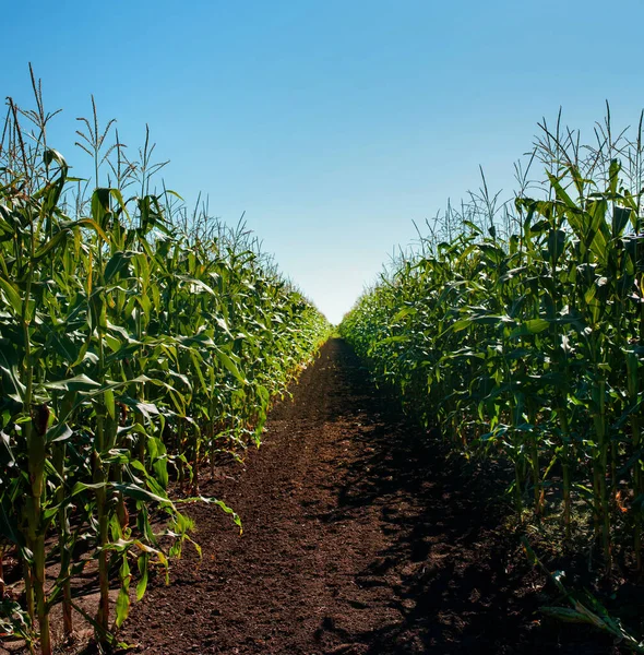
[[[189,202],[248,226],[338,322],[414,223],[513,163],[560,106],[588,132],[644,107],[643,0],[169,0],[13,3],[0,93],[62,108],[50,144],[79,167],[75,118],[145,123]]]

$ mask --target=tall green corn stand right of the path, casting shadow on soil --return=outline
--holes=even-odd
[[[510,465],[520,516],[641,573],[642,120],[616,134],[608,108],[587,145],[540,127],[514,201],[484,178],[341,333],[429,434]]]

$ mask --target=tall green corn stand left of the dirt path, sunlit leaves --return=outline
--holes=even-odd
[[[167,570],[186,543],[199,549],[181,502],[239,523],[200,496],[200,477],[259,444],[272,398],[329,325],[242,226],[152,191],[163,163],[148,134],[128,159],[94,105],[76,153],[93,177],[72,177],[33,83],[36,108],[9,99],[0,134],[0,631],[48,655],[50,609],[62,604],[71,634],[83,614],[71,582],[88,562],[100,604],[85,618],[109,642],[150,568]],[[20,597],[3,582],[9,552]],[[60,572],[46,580],[52,560]]]

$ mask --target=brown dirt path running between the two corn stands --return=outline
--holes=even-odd
[[[155,584],[122,638],[139,652],[288,655],[610,653],[540,622],[546,596],[502,514],[384,402],[339,340],[275,407],[262,448],[190,508],[203,548]],[[563,636],[562,636],[563,635]]]

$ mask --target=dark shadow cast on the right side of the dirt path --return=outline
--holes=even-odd
[[[389,585],[403,620],[338,634],[326,618],[320,631],[361,645],[347,653],[373,655],[619,652],[610,638],[588,627],[561,626],[539,615],[552,590],[530,570],[518,536],[503,527],[504,474],[446,458],[436,440],[419,434],[395,403],[373,389],[348,348],[342,357],[351,395],[360,401],[354,418],[363,456],[350,465],[336,508],[319,517],[345,521],[365,505],[379,507],[392,545],[355,583]]]

